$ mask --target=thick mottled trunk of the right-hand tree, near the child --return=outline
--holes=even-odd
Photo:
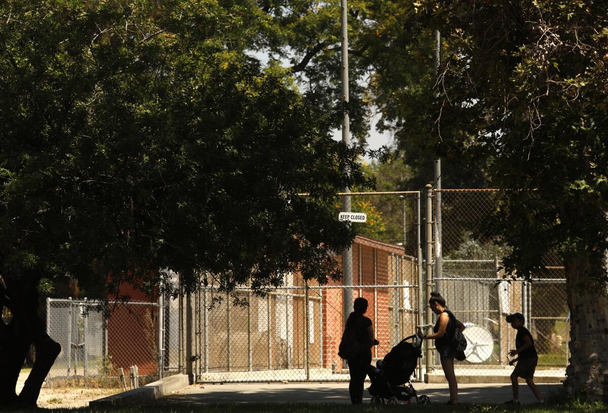
[[[608,401],[608,289],[589,277],[589,257],[564,260],[570,307],[568,395]]]

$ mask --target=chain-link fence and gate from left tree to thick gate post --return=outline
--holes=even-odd
[[[62,348],[49,377],[117,377],[136,365],[150,378],[184,372],[200,381],[348,380],[337,348],[353,298],[368,300],[381,342],[375,358],[415,332],[422,300],[420,192],[349,199],[350,212],[367,221],[351,224],[359,235],[336,257],[348,281],[319,286],[286,274],[285,285],[266,296],[247,287],[232,295],[201,287],[176,300],[117,304],[107,319],[91,301],[49,300],[47,331]]]

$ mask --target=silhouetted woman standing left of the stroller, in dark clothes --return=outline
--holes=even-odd
[[[374,338],[371,320],[364,315],[367,311],[367,305],[365,298],[355,298],[354,311],[348,316],[342,336],[342,343],[345,343],[345,339],[350,340],[348,343],[351,348],[345,349],[345,354],[348,355],[348,371],[350,374],[348,392],[353,405],[363,403],[365,375],[368,374],[371,367],[371,348],[379,344],[379,341]],[[342,348],[342,345],[340,348]]]

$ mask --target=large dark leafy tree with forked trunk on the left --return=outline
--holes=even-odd
[[[214,277],[263,293],[295,269],[339,277],[332,257],[354,233],[333,195],[373,186],[364,151],[331,139],[313,93],[230,47],[247,35],[241,12],[204,0],[0,5],[0,307],[12,315],[0,403],[35,405],[60,352],[36,313],[57,280],[154,294],[170,268],[188,290]]]

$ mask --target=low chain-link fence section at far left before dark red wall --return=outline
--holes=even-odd
[[[105,317],[96,301],[48,298],[47,334],[61,345],[49,383],[58,378],[118,379],[120,369],[128,383],[131,366],[137,366],[141,381],[151,381],[159,377],[159,363],[161,372],[177,371],[176,303],[111,303]]]

